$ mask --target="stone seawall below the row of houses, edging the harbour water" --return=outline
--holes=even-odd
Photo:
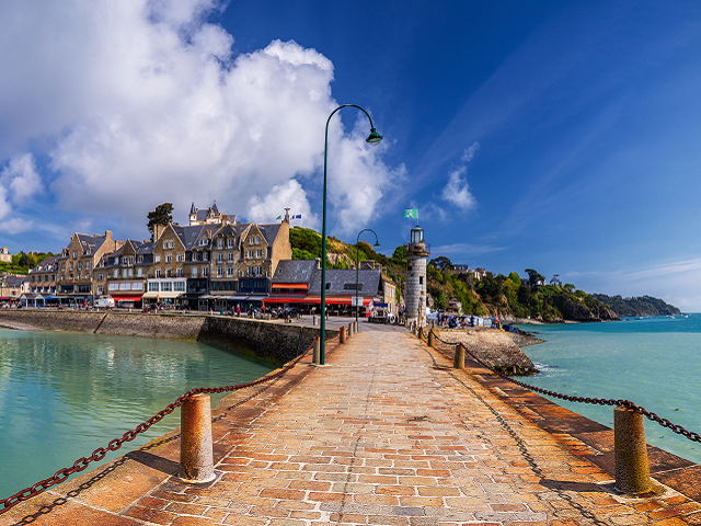
[[[292,359],[319,334],[317,328],[250,318],[53,309],[2,309],[0,327],[189,340],[241,352],[275,364]],[[327,330],[326,338],[332,338],[335,333],[336,331]]]

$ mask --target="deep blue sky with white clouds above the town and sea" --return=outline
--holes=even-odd
[[[194,203],[701,311],[696,1],[0,2],[0,245]],[[360,239],[374,243],[371,233]]]

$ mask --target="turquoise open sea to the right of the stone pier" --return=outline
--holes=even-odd
[[[547,343],[525,347],[541,374],[528,384],[579,397],[628,399],[701,434],[701,315],[607,323],[524,325]],[[613,427],[613,408],[563,402]],[[701,462],[696,444],[645,420],[648,444]]]

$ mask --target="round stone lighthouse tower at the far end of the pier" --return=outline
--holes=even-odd
[[[426,324],[426,258],[430,245],[424,242],[424,230],[412,228],[411,242],[406,247],[406,294],[404,296],[406,324],[415,321]]]

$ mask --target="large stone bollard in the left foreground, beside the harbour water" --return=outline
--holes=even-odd
[[[196,483],[215,480],[209,395],[198,392],[183,402],[180,426],[179,477],[185,482]]]

